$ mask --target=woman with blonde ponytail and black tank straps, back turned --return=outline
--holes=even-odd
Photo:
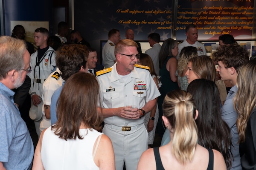
[[[163,122],[171,141],[146,150],[137,170],[226,170],[223,156],[217,150],[200,146],[195,119],[198,111],[192,95],[181,90],[169,92],[163,101]]]

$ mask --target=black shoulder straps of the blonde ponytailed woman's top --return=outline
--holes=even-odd
[[[154,147],[153,150],[154,150],[157,170],[164,170],[163,164],[160,158],[160,154],[159,154],[159,147]],[[207,170],[213,170],[213,151],[211,149],[208,149],[208,151],[209,151],[209,164],[208,164]]]

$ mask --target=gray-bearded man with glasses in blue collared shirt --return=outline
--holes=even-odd
[[[26,123],[13,101],[12,89],[20,87],[31,71],[30,54],[23,40],[0,37],[0,169],[29,170],[34,147]]]

